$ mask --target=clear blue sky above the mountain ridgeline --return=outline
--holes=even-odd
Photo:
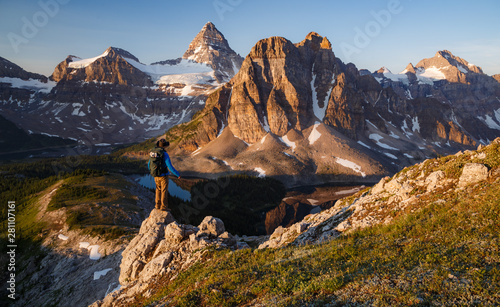
[[[447,49],[492,75],[499,16],[497,0],[0,0],[0,56],[45,75],[69,54],[94,57],[109,46],[149,64],[182,56],[211,21],[243,57],[259,39],[297,43],[315,31],[358,68],[396,73]]]

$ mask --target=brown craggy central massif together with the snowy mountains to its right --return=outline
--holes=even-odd
[[[339,175],[378,180],[427,157],[497,137],[499,94],[495,79],[449,51],[409,64],[402,74],[382,68],[370,75],[342,63],[317,33],[296,44],[270,37],[257,42],[238,74],[169,138],[177,154],[192,153],[178,163],[193,173],[257,167],[266,176],[296,172],[309,182]],[[230,159],[211,145],[228,133],[248,145],[227,144],[236,153]],[[339,151],[318,154],[317,146],[327,139]],[[214,159],[224,163],[215,166]]]

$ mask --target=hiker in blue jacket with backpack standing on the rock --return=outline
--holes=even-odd
[[[165,151],[170,145],[165,139],[156,142],[156,147],[149,153],[148,169],[151,176],[155,178],[156,196],[155,209],[170,211],[168,208],[168,174],[169,171],[178,179],[181,178],[179,172],[172,166],[170,157]]]

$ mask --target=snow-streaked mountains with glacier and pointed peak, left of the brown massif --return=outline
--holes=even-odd
[[[0,76],[41,80],[26,85],[0,80],[0,110],[8,120],[25,130],[102,145],[142,141],[189,120],[208,93],[234,76],[241,57],[208,23],[185,58],[151,65],[109,47],[93,58],[68,56],[47,83],[47,77],[7,62],[0,61],[6,67]]]

